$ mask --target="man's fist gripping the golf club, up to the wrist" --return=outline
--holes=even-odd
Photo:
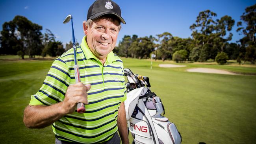
[[[63,112],[66,114],[73,113],[76,109],[76,104],[80,102],[87,105],[87,91],[90,89],[90,84],[83,85],[82,82],[70,85],[67,88],[65,99],[63,100],[61,105]]]

